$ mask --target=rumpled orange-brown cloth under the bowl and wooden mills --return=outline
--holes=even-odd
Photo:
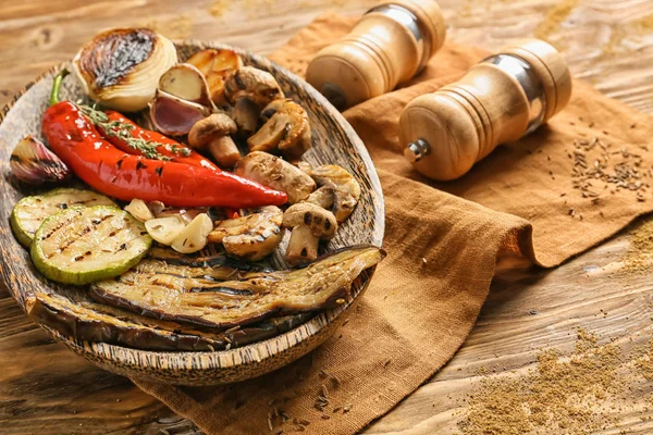
[[[271,59],[301,75],[310,58],[354,23],[322,16]],[[274,407],[291,418],[274,432],[293,432],[297,418],[310,422],[306,430],[311,434],[355,433],[452,358],[485,300],[501,249],[554,266],[652,210],[650,190],[638,200],[628,187],[613,194],[614,184],[603,188],[605,183],[596,183],[600,199],[592,201],[572,188],[575,140],[591,145],[597,137],[609,145],[611,159],[632,160],[637,152],[644,184],[653,163],[645,149],[653,144],[652,117],[578,80],[570,104],[549,126],[501,147],[465,177],[435,184],[414,172],[397,140],[402,109],[458,79],[484,55],[447,42],[412,83],[344,113],[367,145],[383,185],[389,257],[340,333],[312,356],[242,384],[136,385],[210,434],[270,433],[268,414]],[[588,158],[587,164],[594,161]],[[322,370],[340,380],[337,389],[323,380]],[[330,390],[330,420],[313,408],[322,384]],[[332,413],[349,403],[347,413]]]

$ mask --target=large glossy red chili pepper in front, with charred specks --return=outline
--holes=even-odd
[[[284,192],[229,172],[125,153],[102,138],[70,101],[46,110],[44,135],[52,150],[79,178],[104,195],[139,198],[173,207],[280,206]]]

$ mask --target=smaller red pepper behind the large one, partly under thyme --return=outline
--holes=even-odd
[[[201,166],[218,172],[222,171],[213,162],[206,159],[199,152],[193,151],[193,149],[186,147],[185,145],[182,145],[176,140],[163,136],[158,132],[141,128],[136,123],[132,122],[132,120],[124,116],[122,113],[108,110],[104,112],[104,114],[107,115],[110,122],[119,122],[121,124],[127,124],[132,126],[132,128],[130,129],[130,135],[132,137],[148,140],[152,144],[161,144],[161,146],[158,146],[156,148],[157,152],[165,158],[169,158],[173,162],[186,163],[192,166]],[[115,145],[115,147],[120,150],[130,154],[143,156],[143,151],[140,151],[138,148],[131,147],[125,140],[121,139],[116,135],[108,135],[101,126],[98,126],[98,132],[100,132],[100,134],[104,136],[107,140]]]

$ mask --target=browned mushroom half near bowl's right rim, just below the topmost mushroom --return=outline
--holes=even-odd
[[[269,103],[261,112],[266,124],[247,139],[251,151],[270,151],[274,148],[289,158],[299,158],[311,146],[308,115],[301,105],[289,99]]]

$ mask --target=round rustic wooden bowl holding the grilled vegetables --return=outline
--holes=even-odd
[[[180,59],[187,59],[204,48],[229,48],[198,41],[177,45]],[[381,246],[384,226],[383,196],[370,157],[352,126],[317,90],[285,69],[264,58],[237,50],[245,64],[271,72],[286,96],[307,110],[313,134],[313,148],[304,159],[311,164],[334,163],[349,170],[360,183],[360,202],[342,225],[329,250],[373,244]],[[1,273],[7,287],[25,309],[25,300],[35,291],[56,288],[34,269],[28,252],[14,239],[9,216],[13,206],[33,194],[11,177],[9,158],[15,144],[26,135],[41,138],[40,122],[48,105],[52,77],[60,65],[25,87],[0,113],[0,161],[4,182],[0,185]],[[83,96],[75,80],[66,79],[62,99]],[[373,268],[355,282],[350,302],[321,313],[308,322],[276,337],[245,347],[214,352],[146,351],[106,343],[88,343],[64,336],[41,325],[56,340],[64,344],[90,362],[125,376],[182,385],[213,385],[244,381],[276,370],[322,344],[341,325],[362,296],[372,277]]]

